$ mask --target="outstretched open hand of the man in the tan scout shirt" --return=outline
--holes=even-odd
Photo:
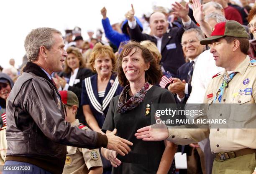
[[[164,124],[154,124],[138,129],[135,136],[143,141],[162,141],[168,138],[168,129]]]

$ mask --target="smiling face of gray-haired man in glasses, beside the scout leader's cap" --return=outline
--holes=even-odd
[[[195,32],[184,33],[182,35],[182,50],[186,57],[196,58],[202,53],[204,45],[201,45]]]

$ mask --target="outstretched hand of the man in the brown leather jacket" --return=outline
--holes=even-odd
[[[133,143],[126,139],[122,139],[119,136],[115,136],[115,134],[116,129],[106,134],[106,136],[108,137],[108,145],[106,148],[117,151],[118,154],[125,156],[125,154],[128,154],[128,152],[131,151],[129,146],[132,146]]]

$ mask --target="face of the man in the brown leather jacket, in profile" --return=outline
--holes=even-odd
[[[60,34],[53,34],[54,45],[47,51],[46,65],[52,72],[59,72],[63,70],[63,64],[67,52],[64,50],[64,41]]]

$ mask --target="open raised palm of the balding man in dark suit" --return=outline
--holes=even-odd
[[[188,7],[188,3],[186,3],[186,7],[184,7],[183,5],[181,5],[178,2],[175,2],[175,4],[172,4],[173,6],[173,10],[174,10],[174,15],[179,16],[183,22],[187,22],[189,21],[189,7]]]

